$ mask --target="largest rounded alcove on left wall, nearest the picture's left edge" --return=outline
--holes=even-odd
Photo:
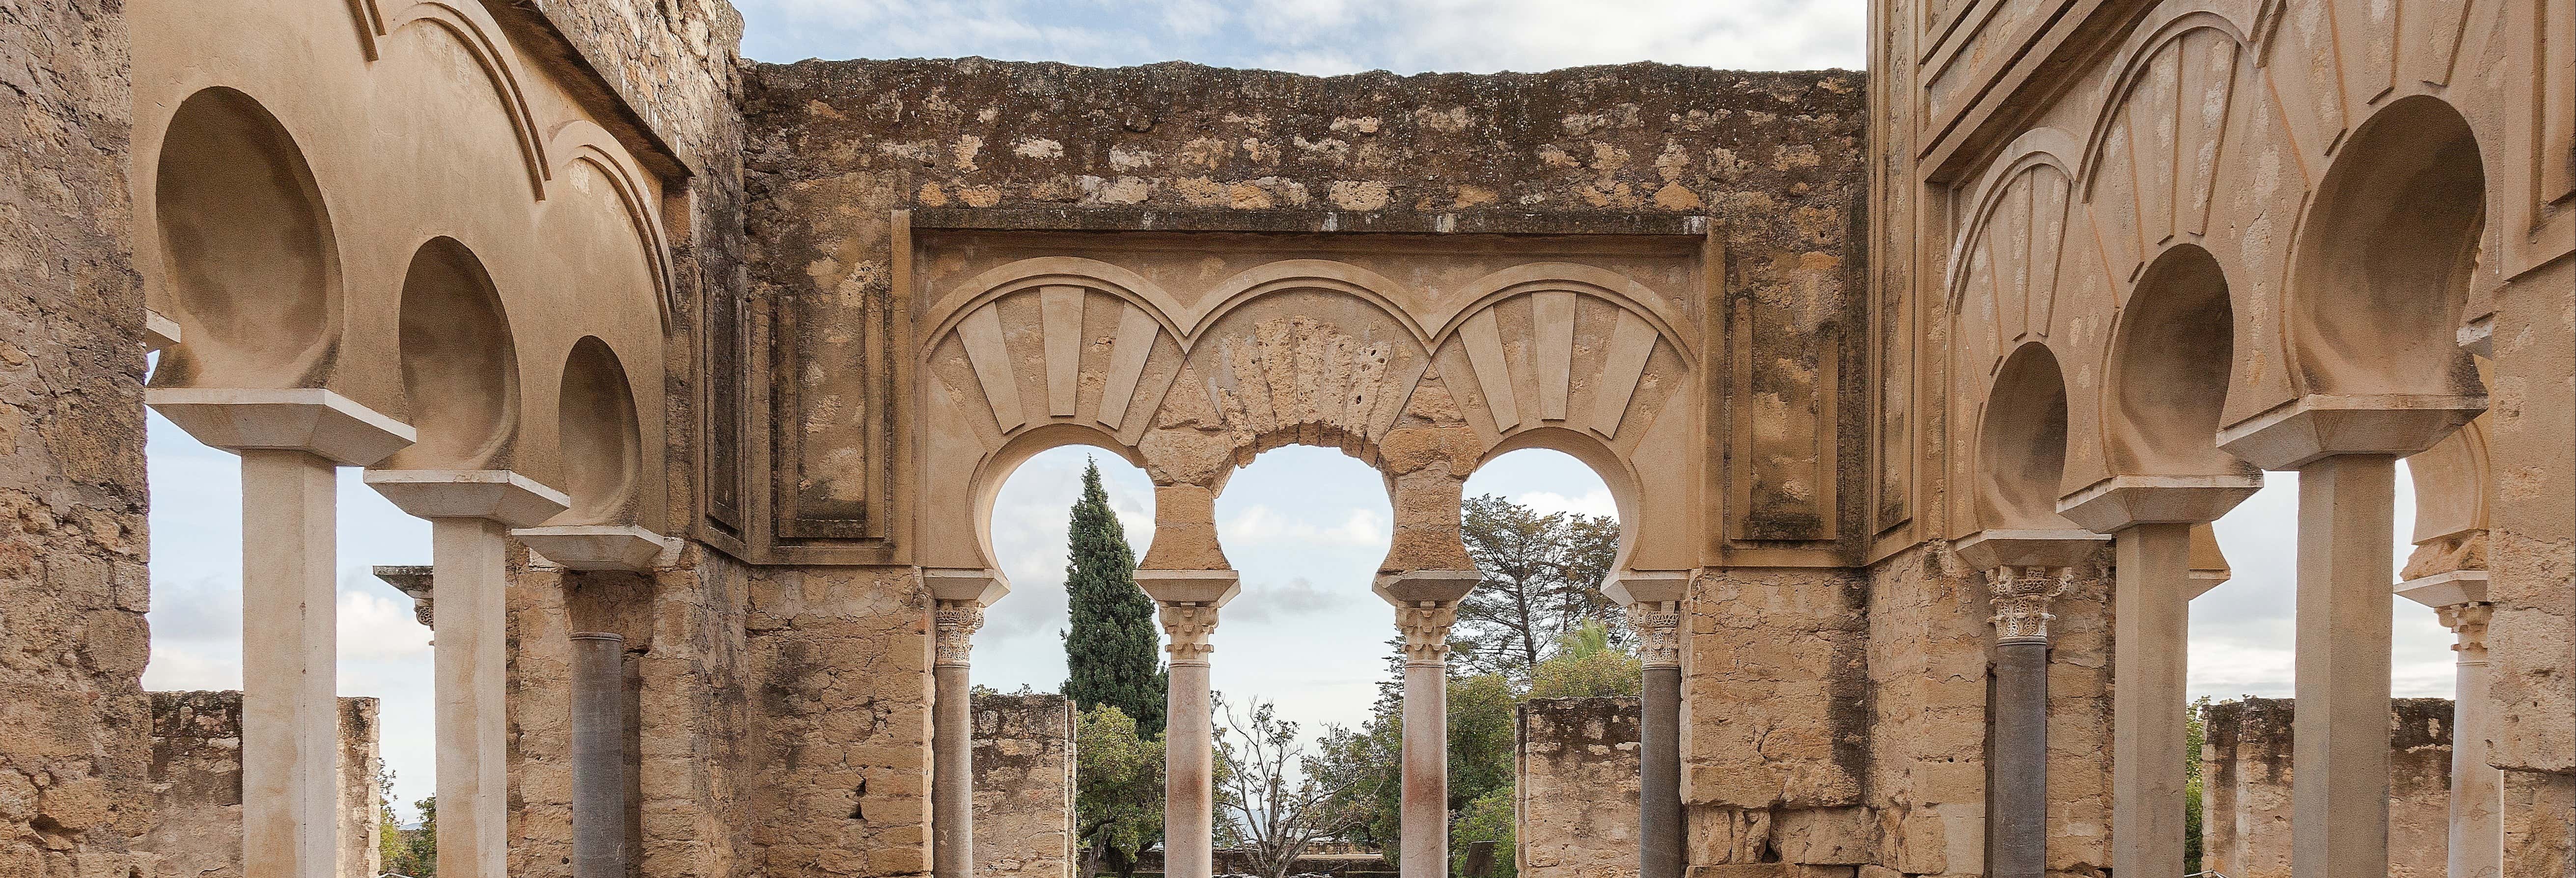
[[[152,188],[162,281],[185,342],[160,386],[301,386],[332,353],[340,263],[304,152],[250,95],[180,103]]]

